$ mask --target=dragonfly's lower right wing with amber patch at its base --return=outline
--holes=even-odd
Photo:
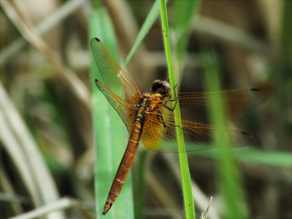
[[[255,145],[256,140],[249,134],[233,129],[217,128],[206,124],[182,120],[181,124],[174,122],[172,116],[162,115],[164,124],[159,123],[155,115],[147,115],[142,134],[142,143],[150,150],[157,152],[178,152],[176,128],[183,129],[186,151],[199,151],[216,148],[219,140],[215,131],[231,140],[231,147]],[[223,136],[224,137],[224,136]]]

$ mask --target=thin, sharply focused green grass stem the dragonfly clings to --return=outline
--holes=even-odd
[[[163,37],[164,37],[164,46],[165,46],[166,60],[167,60],[167,65],[168,65],[169,79],[172,86],[175,87],[175,79],[174,79],[172,60],[171,60],[171,48],[170,48],[170,40],[169,40],[166,1],[160,0],[159,4],[160,4],[161,23],[162,23],[162,31],[163,31]],[[180,109],[178,105],[176,105],[175,107],[174,114],[175,114],[175,122],[180,124],[181,123]],[[177,127],[176,132],[177,132],[177,138],[178,138],[178,148],[180,152],[179,157],[180,157],[180,168],[181,168],[182,182],[183,182],[183,194],[184,194],[186,218],[195,218],[194,200],[193,200],[193,194],[192,194],[190,171],[189,171],[189,166],[187,163],[187,154],[185,152],[185,146],[184,146],[183,130]]]

